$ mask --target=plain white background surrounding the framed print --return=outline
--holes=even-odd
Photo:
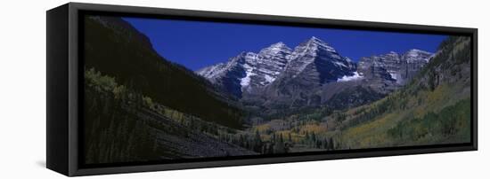
[[[80,1],[454,27],[478,27],[479,151],[95,178],[488,178],[490,16],[486,1],[126,0]],[[4,0],[0,7],[0,178],[61,178],[45,169],[45,11],[67,1]]]

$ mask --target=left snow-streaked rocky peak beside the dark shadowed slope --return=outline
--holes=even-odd
[[[225,64],[207,66],[197,74],[210,82],[241,97],[244,91],[250,91],[274,82],[288,63],[291,49],[284,43],[274,43],[258,53],[241,52],[230,58]]]

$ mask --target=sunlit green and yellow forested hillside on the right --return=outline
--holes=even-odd
[[[404,89],[346,113],[339,148],[469,143],[470,38],[449,37]]]

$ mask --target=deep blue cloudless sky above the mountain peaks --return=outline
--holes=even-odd
[[[124,18],[151,39],[153,48],[168,60],[192,70],[225,62],[241,51],[258,52],[273,43],[294,49],[316,36],[339,51],[359,58],[411,49],[435,52],[445,35],[418,35],[313,27],[281,27],[202,21]]]

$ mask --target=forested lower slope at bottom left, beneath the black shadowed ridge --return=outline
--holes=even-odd
[[[87,164],[257,154],[221,140],[236,129],[153,102],[94,68],[85,76]]]

